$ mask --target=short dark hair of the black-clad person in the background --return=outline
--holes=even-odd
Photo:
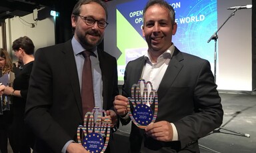
[[[12,45],[13,51],[19,50],[19,48],[23,49],[27,55],[33,55],[35,51],[35,46],[33,41],[29,39],[29,37],[19,37],[15,41],[13,41]]]

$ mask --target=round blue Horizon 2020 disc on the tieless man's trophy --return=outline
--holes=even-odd
[[[153,119],[153,111],[146,104],[138,104],[133,110],[133,118],[142,126],[147,126]]]

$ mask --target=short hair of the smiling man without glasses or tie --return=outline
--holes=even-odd
[[[169,3],[167,3],[164,0],[150,0],[147,2],[146,6],[143,9],[143,20],[145,19],[145,12],[147,11],[147,9],[149,9],[149,7],[151,7],[152,5],[160,5],[162,7],[165,7],[167,9],[169,9],[170,11],[170,17],[171,17],[171,24],[174,25],[175,23],[175,11],[173,9],[173,7],[171,5],[169,5]]]

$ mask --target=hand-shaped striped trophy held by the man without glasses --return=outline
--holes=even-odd
[[[151,82],[139,79],[131,88],[131,98],[128,97],[129,116],[139,128],[146,128],[151,122],[155,122],[158,110],[157,91],[153,89]],[[153,104],[154,112],[150,106]],[[133,107],[133,108],[131,108]]]

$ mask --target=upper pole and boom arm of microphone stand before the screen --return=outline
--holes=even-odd
[[[211,40],[215,41],[215,47],[214,47],[214,81],[216,83],[216,62],[217,62],[217,39],[218,39],[218,35],[217,33],[219,32],[219,30],[223,27],[223,25],[225,25],[225,23],[227,23],[227,21],[235,15],[235,12],[238,10],[239,8],[235,9],[231,15],[229,15],[229,17],[226,19],[226,21],[221,25],[221,27],[219,27],[219,29],[217,29],[217,31],[215,31],[215,33],[213,33],[213,35],[210,37],[210,39],[207,41],[207,43],[209,43]]]

